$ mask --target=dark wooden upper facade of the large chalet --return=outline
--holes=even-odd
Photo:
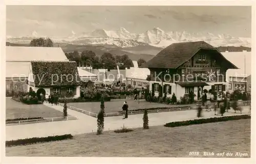
[[[149,68],[153,81],[174,83],[175,81],[203,80],[205,82],[226,82],[225,60],[218,58],[216,53],[200,50],[191,59],[178,68]],[[213,81],[209,80],[208,72],[215,72]]]

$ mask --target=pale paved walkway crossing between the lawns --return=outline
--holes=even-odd
[[[63,108],[59,105],[49,105],[55,110],[62,111]],[[242,114],[249,113],[249,106],[243,107]],[[69,110],[68,114],[71,116],[78,117],[78,120],[70,121],[58,121],[58,122],[44,122],[36,124],[24,124],[24,125],[13,125],[6,126],[6,141],[25,139],[32,137],[45,137],[50,135],[62,135],[62,134],[82,134],[95,132],[97,130],[97,120],[91,116]],[[239,115],[240,112],[234,113],[233,110],[229,110],[228,113],[225,113],[224,116]],[[205,112],[202,113],[203,118],[215,117],[214,112]],[[173,121],[183,121],[196,119],[197,117],[196,110],[190,111],[175,111],[175,112],[163,112],[163,113],[152,113],[148,114],[148,120],[150,126],[163,125],[168,122]],[[220,116],[220,114],[218,115]],[[115,130],[118,128],[129,127],[142,127],[143,125],[143,114],[130,115],[128,119],[122,119],[122,116],[115,117],[105,117],[104,118],[104,129],[105,130]]]

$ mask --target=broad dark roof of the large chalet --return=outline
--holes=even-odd
[[[200,48],[214,48],[204,41],[173,43],[161,50],[143,67],[147,68],[177,68],[200,50]]]

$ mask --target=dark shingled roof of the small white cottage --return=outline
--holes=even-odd
[[[80,86],[76,62],[32,61],[35,87]]]

